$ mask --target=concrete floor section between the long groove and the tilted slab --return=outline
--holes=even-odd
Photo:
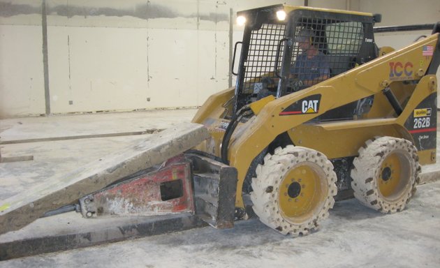
[[[132,147],[149,135],[103,137],[0,146],[2,156],[32,155],[33,161],[0,164],[0,200],[28,191],[57,174],[66,174],[115,151]]]

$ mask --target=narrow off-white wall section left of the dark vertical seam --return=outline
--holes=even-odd
[[[45,113],[41,47],[41,26],[1,25],[0,116]]]

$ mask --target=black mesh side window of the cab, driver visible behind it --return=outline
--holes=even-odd
[[[363,32],[362,22],[303,18],[295,28],[291,75],[309,87],[353,68]]]

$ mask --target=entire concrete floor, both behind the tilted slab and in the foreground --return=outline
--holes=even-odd
[[[195,112],[1,120],[1,156],[32,155],[34,161],[0,164],[0,199],[135,144],[148,135],[142,133],[190,121]],[[231,230],[199,228],[6,260],[0,267],[439,267],[439,197],[437,181],[419,186],[398,214],[382,215],[357,200],[337,202],[321,230],[295,239],[254,218]]]

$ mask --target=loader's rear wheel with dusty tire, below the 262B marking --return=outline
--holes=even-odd
[[[366,144],[351,170],[355,198],[382,213],[402,211],[419,181],[416,147],[397,137],[379,137]]]

